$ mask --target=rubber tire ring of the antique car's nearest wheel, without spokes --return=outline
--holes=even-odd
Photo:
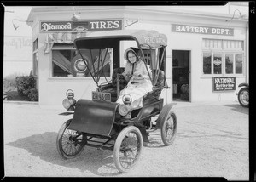
[[[131,131],[135,132],[137,134],[138,140],[140,142],[140,144],[139,144],[140,149],[139,149],[137,158],[135,159],[136,161],[130,166],[130,168],[124,168],[119,161],[119,151],[120,151],[120,146],[122,145],[122,141],[125,138],[125,135],[130,133]],[[139,157],[141,156],[142,150],[143,150],[143,136],[142,136],[140,130],[134,126],[128,126],[128,127],[124,128],[119,133],[117,139],[115,140],[115,144],[113,147],[113,161],[114,161],[116,168],[118,168],[119,172],[127,173],[132,167],[134,167],[137,164]]]

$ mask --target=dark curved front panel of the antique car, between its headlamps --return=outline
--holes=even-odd
[[[109,136],[118,103],[81,99],[77,102],[72,122],[68,129]]]

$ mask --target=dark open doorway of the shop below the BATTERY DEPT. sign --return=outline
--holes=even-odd
[[[189,101],[189,57],[188,50],[172,50],[172,98]]]

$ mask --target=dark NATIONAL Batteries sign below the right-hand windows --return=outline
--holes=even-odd
[[[236,90],[236,77],[213,77],[213,91]]]

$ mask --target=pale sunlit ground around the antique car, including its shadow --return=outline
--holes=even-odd
[[[33,177],[224,177],[249,179],[248,109],[238,102],[178,103],[177,137],[164,146],[160,131],[151,134],[137,167],[119,173],[112,151],[85,147],[80,156],[63,160],[56,136],[69,117],[64,109],[3,103],[5,176]]]

